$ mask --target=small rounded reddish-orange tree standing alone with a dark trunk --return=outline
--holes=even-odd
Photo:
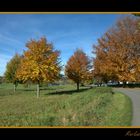
[[[79,90],[79,84],[91,78],[90,68],[89,58],[81,49],[77,49],[67,62],[65,74],[77,84]]]

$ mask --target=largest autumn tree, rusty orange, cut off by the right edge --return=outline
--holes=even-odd
[[[94,73],[108,80],[137,81],[140,58],[139,18],[125,17],[110,28],[94,46]],[[140,80],[140,79],[139,79]]]

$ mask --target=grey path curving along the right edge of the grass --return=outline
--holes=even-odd
[[[132,126],[140,126],[140,89],[114,88],[114,90],[120,91],[131,98],[133,104]]]

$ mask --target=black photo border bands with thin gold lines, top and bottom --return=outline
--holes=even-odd
[[[123,2],[122,2],[123,1]],[[7,0],[1,1],[0,14],[140,14],[139,0]],[[41,139],[51,137],[133,137],[140,136],[138,127],[0,127],[4,137],[22,138],[28,136]],[[79,138],[78,138],[79,139]]]

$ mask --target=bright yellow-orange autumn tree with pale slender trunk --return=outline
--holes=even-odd
[[[17,77],[24,83],[32,81],[37,84],[37,97],[40,93],[41,82],[53,82],[59,78],[61,70],[59,54],[45,37],[40,40],[30,40],[24,51]]]

